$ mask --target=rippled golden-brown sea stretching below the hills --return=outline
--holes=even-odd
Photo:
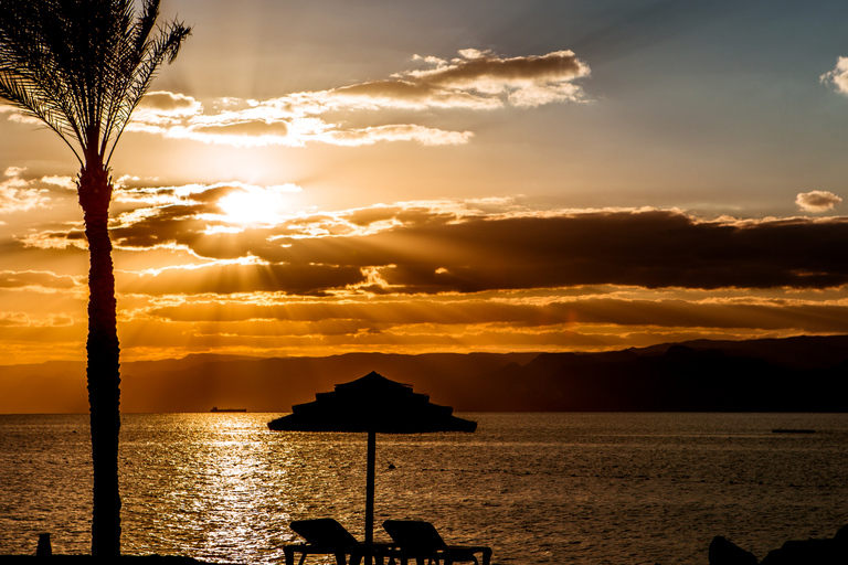
[[[280,563],[290,522],[326,516],[363,539],[364,434],[269,431],[280,415],[123,415],[121,552]],[[375,541],[412,519],[494,564],[707,565],[717,535],[763,558],[848,524],[846,414],[460,416],[477,431],[378,435]],[[91,551],[88,431],[0,415],[0,554]]]

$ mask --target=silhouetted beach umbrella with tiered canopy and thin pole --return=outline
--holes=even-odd
[[[368,433],[365,484],[365,546],[373,543],[374,458],[377,434],[423,434],[431,431],[474,431],[477,423],[458,418],[451,406],[430,402],[409,384],[391,381],[375,372],[332,392],[318,393],[315,401],[292,406],[292,414],[268,423],[278,431],[364,431]]]

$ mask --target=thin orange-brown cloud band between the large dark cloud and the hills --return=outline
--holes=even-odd
[[[625,299],[587,296],[533,302],[521,300],[361,301],[246,303],[199,301],[155,307],[150,316],[179,322],[279,321],[294,324],[343,321],[348,332],[386,331],[400,326],[555,329],[575,324],[659,328],[746,328],[848,332],[848,306],[785,300],[676,298]],[[337,322],[338,323],[338,322]]]

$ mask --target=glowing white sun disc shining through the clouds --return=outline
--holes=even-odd
[[[242,225],[274,225],[290,214],[290,194],[295,185],[240,185],[218,201],[218,207],[227,223]]]

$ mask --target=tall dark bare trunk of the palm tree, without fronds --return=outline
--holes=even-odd
[[[92,555],[113,557],[120,554],[120,349],[108,232],[112,200],[108,171],[97,166],[84,167],[80,173],[78,193],[85,214],[89,259],[86,351],[94,467]]]

